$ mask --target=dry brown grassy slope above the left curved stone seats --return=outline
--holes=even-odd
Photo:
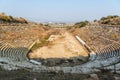
[[[36,24],[15,24],[0,26],[0,40],[15,46],[28,47],[34,40],[40,38],[46,30]]]

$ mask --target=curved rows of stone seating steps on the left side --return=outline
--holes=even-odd
[[[14,47],[6,42],[0,41],[0,57],[11,58],[12,60],[28,60],[29,49],[25,47]]]

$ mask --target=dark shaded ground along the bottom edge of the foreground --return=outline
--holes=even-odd
[[[95,73],[98,75],[99,80],[114,80],[114,76],[109,72]],[[5,71],[0,69],[0,80],[89,80],[90,74],[64,74],[62,72],[47,72],[38,73],[30,72],[28,70]]]

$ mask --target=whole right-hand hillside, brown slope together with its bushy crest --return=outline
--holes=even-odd
[[[113,42],[120,43],[119,22],[119,16],[107,16],[94,22],[76,23],[69,31],[74,35],[79,35],[91,49],[97,50]]]

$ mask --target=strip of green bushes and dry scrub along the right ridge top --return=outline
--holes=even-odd
[[[82,28],[86,26],[120,26],[120,16],[118,15],[109,15],[106,17],[102,17],[100,20],[94,20],[93,22],[89,21],[81,21],[75,23],[71,27],[67,27],[67,30],[71,30],[72,28]]]

